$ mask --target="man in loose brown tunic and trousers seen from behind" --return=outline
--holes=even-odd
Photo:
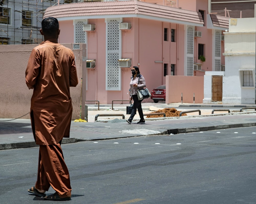
[[[36,144],[39,145],[37,181],[28,191],[46,200],[70,200],[69,172],[60,147],[69,137],[72,103],[69,87],[78,84],[73,52],[58,43],[56,18],[42,20],[44,41],[35,47],[26,69],[26,84],[34,89],[30,118]],[[46,196],[49,187],[56,191]]]

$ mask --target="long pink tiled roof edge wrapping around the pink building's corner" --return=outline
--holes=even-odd
[[[169,6],[146,3],[141,1],[113,1],[113,2],[82,2],[62,4],[48,7],[44,18],[69,18],[87,16],[106,18],[106,15],[119,15],[119,17],[138,17],[152,19],[166,19],[180,24],[186,22],[203,25],[203,19],[199,12],[189,11]],[[160,19],[159,19],[160,20]],[[185,21],[185,22],[184,22]]]

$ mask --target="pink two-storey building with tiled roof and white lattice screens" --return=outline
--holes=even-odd
[[[167,85],[166,103],[180,102],[177,87],[202,103],[205,71],[225,68],[229,21],[209,14],[208,0],[71,3],[47,8],[46,17],[59,20],[60,43],[87,44],[86,100],[129,100],[131,67],[138,66],[149,90]],[[198,78],[189,83],[188,76]]]

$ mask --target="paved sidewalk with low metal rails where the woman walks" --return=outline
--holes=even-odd
[[[97,104],[88,105],[88,122],[71,122],[70,138],[64,138],[62,144],[88,141],[88,140],[104,140],[114,138],[126,138],[143,135],[163,135],[189,133],[194,131],[206,131],[214,129],[225,129],[234,127],[256,126],[256,112],[253,109],[244,110],[243,112],[232,111],[233,107],[254,107],[255,105],[230,105],[224,104],[165,104],[143,103],[143,113],[151,113],[159,109],[174,107],[178,111],[183,111],[184,106],[191,107],[195,110],[200,107],[207,106],[212,109],[219,107],[227,107],[231,113],[216,112],[211,114],[212,110],[201,110],[198,112],[187,113],[188,116],[182,117],[161,117],[146,118],[146,124],[137,124],[139,120],[138,113],[134,117],[132,124],[128,124],[126,119],[130,115],[126,115],[127,104],[100,105],[98,110]],[[109,110],[108,110],[109,109]],[[153,110],[154,109],[154,110]],[[238,108],[237,108],[238,109]],[[98,117],[97,114],[124,114],[122,116]],[[0,119],[1,121],[8,119]],[[33,134],[29,119],[16,119],[12,121],[0,122],[0,150],[13,148],[35,147]]]

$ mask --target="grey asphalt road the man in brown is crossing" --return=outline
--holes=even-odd
[[[256,203],[255,132],[246,127],[63,144],[72,186],[65,203]],[[38,147],[0,150],[1,204],[56,203],[27,192],[37,160]]]

